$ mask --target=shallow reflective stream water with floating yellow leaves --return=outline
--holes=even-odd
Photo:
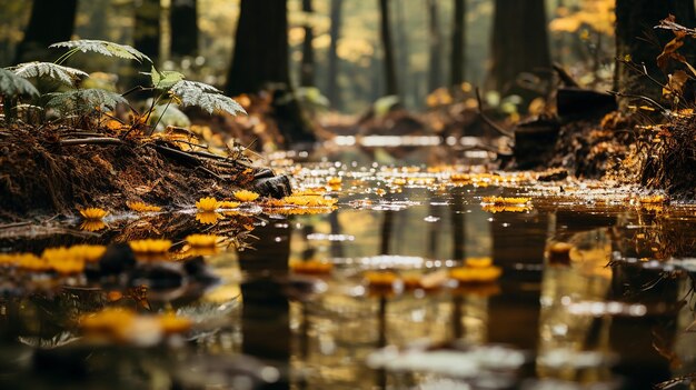
[[[0,388],[689,388],[694,207],[606,183],[356,156],[274,162],[306,193],[338,199],[335,209],[250,202],[112,216],[106,228],[4,227],[3,252],[147,237],[173,246],[166,262],[160,253],[127,272],[108,273],[103,259],[91,276],[4,267]],[[195,232],[227,249],[188,252]],[[196,256],[205,264],[187,260]],[[501,273],[479,271],[490,267]],[[105,307],[190,322],[84,324]]]

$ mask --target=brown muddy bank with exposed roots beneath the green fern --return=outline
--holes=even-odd
[[[96,136],[29,126],[0,129],[0,221],[71,216],[86,207],[125,210],[129,201],[176,209],[201,197],[232,199],[238,189],[272,197],[290,191],[286,177],[253,167],[241,153],[225,158],[183,151],[181,143],[165,139]]]

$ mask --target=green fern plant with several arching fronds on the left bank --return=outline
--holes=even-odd
[[[59,119],[67,119],[71,116],[84,118],[92,114],[101,118],[106,111],[115,110],[118,104],[125,104],[133,112],[136,120],[133,120],[130,129],[123,132],[122,137],[132,133],[132,130],[143,123],[149,127],[145,133],[152,132],[171,103],[178,103],[182,107],[200,107],[208,113],[216,111],[231,114],[246,113],[239,103],[222,94],[217,88],[202,82],[185,80],[185,76],[179,72],[159,71],[155,66],[151,66],[150,72],[145,73],[150,76],[150,86],[138,86],[121,94],[99,88],[82,89],[80,83],[89,76],[82,70],[62,64],[78,52],[95,52],[107,57],[149,62],[150,64],[152,61],[148,56],[130,46],[101,40],[73,40],[53,43],[50,47],[67,48],[68,51],[60,56],[54,63],[27,62],[12,68],[0,69],[0,96],[3,98],[8,121],[14,120],[16,106],[20,97],[39,98],[39,101],[44,102],[42,108],[54,110],[60,114]],[[54,80],[67,90],[41,96],[27,79]],[[145,112],[136,111],[126,99],[129,93],[136,90],[152,93],[151,103]],[[158,120],[150,123],[150,118],[156,110]],[[115,117],[110,118],[119,120]]]

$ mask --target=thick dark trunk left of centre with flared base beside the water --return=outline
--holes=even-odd
[[[274,117],[289,146],[314,142],[315,136],[290,84],[287,13],[286,0],[241,0],[225,90],[230,96],[258,93],[276,84]]]

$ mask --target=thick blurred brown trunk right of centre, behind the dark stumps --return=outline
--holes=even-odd
[[[543,79],[550,74],[544,0],[496,0],[491,59],[489,89],[501,96],[515,93],[527,99],[544,94],[517,82],[521,73]]]

